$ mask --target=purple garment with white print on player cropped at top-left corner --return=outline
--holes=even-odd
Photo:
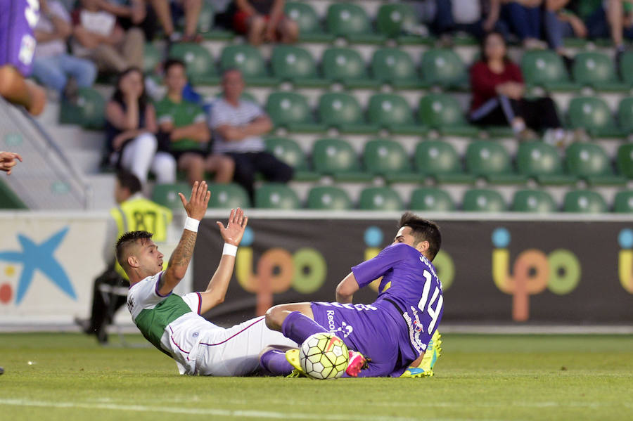
[[[38,0],[0,0],[0,66],[12,65],[23,76],[31,74],[37,20]]]

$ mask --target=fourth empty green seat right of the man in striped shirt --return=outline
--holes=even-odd
[[[473,183],[475,176],[465,174],[459,155],[445,141],[424,141],[416,146],[414,157],[416,171],[433,176],[440,183]]]

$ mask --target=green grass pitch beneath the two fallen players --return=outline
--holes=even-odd
[[[435,377],[316,381],[184,377],[116,338],[1,334],[0,419],[633,420],[631,336],[442,339]]]

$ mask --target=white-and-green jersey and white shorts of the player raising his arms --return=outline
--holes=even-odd
[[[127,309],[146,339],[173,358],[180,374],[236,376],[257,370],[259,354],[269,345],[297,346],[280,332],[269,330],[264,318],[224,329],[200,316],[200,294],[162,297],[163,272],[130,287]]]

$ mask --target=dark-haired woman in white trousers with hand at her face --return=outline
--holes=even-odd
[[[119,75],[115,93],[106,105],[106,134],[110,162],[132,171],[141,183],[152,171],[158,183],[176,180],[176,162],[169,145],[158,145],[156,114],[148,101],[143,72],[130,67]]]

